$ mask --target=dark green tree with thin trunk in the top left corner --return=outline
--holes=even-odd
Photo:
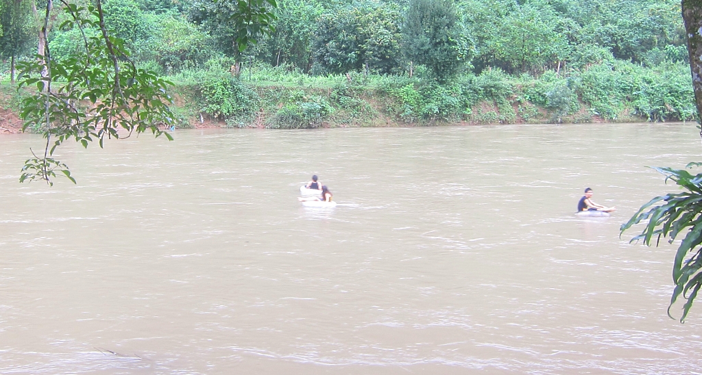
[[[32,41],[32,0],[9,0],[0,8],[0,57],[10,58],[10,81],[15,83],[15,59]]]

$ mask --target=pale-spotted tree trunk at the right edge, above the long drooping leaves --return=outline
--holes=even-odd
[[[687,51],[699,121],[702,113],[702,0],[682,0],[682,20],[687,32]]]

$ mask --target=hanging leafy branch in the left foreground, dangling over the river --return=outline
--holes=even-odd
[[[150,130],[156,137],[165,135],[173,123],[166,93],[173,83],[160,79],[154,72],[138,69],[124,48],[124,41],[110,36],[105,27],[100,0],[95,6],[77,6],[61,0],[69,20],[62,29],[78,28],[84,40],[84,50],[64,60],[54,60],[48,47],[47,30],[53,1],[46,4],[46,17],[41,33],[44,55],[18,64],[19,85],[36,86],[32,95],[22,100],[20,116],[24,130],[39,130],[46,139],[43,156],[32,151],[22,168],[20,182],[44,180],[53,185],[57,172],[75,183],[67,166],[53,158],[58,146],[75,139],[84,147],[98,140],[125,138]],[[87,37],[84,29],[100,30],[99,36]]]

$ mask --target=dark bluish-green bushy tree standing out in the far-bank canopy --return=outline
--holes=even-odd
[[[458,74],[470,60],[453,0],[409,1],[402,34],[406,59],[425,65],[439,82]]]

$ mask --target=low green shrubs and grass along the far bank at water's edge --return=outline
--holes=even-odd
[[[284,67],[183,71],[171,77],[191,121],[226,127],[691,121],[685,64],[654,68],[614,60],[569,76],[511,76],[499,69],[439,84],[406,76],[307,76]]]

